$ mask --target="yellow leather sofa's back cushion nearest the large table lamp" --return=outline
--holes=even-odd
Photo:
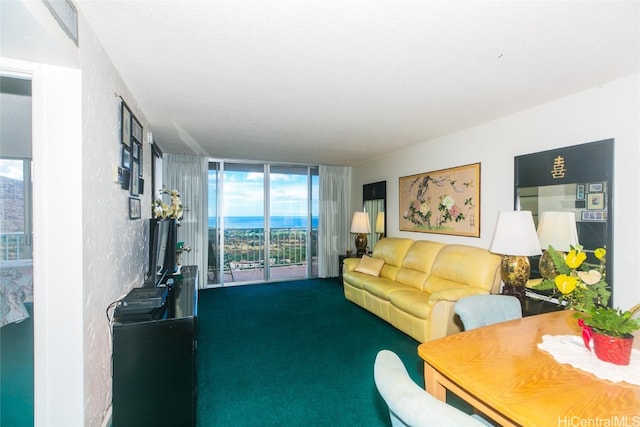
[[[500,256],[466,245],[445,245],[436,257],[424,290],[435,293],[445,289],[471,286],[490,292],[499,284]]]

